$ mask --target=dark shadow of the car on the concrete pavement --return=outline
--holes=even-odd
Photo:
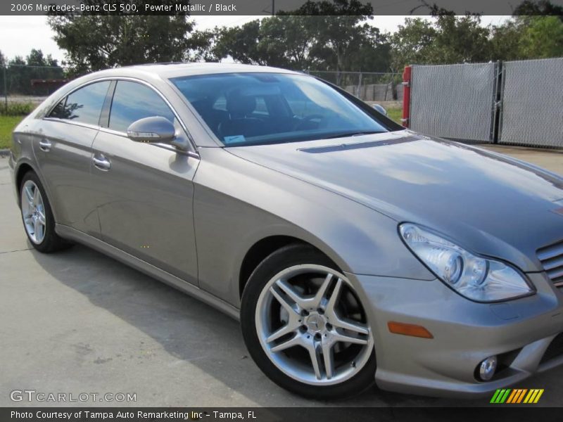
[[[150,336],[175,359],[195,365],[236,394],[261,406],[471,407],[488,404],[486,398],[419,397],[385,392],[375,386],[358,397],[339,402],[303,399],[264,376],[248,355],[239,323],[203,302],[82,245],[50,255],[33,251],[32,255],[54,279],[84,295],[92,305],[111,312]],[[107,335],[111,337],[114,333]],[[186,382],[190,381],[189,375],[185,374]],[[183,375],[177,373],[177,376],[182,378]]]

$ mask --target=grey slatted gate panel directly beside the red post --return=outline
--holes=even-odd
[[[491,142],[496,63],[413,65],[410,127],[422,134]]]

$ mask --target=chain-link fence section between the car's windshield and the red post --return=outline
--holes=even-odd
[[[401,75],[385,72],[329,72],[310,70],[308,73],[335,84],[367,102],[402,101]]]

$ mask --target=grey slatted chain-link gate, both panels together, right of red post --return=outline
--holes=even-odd
[[[410,128],[460,141],[563,148],[563,58],[411,68]]]

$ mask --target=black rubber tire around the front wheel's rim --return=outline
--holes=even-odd
[[[361,371],[335,385],[310,385],[287,376],[275,366],[260,345],[255,324],[255,309],[262,289],[279,271],[299,264],[323,265],[340,271],[322,252],[304,244],[291,244],[265,258],[253,271],[243,291],[241,301],[241,329],[248,352],[254,362],[274,383],[303,397],[312,399],[346,399],[358,395],[375,382],[375,352]]]

